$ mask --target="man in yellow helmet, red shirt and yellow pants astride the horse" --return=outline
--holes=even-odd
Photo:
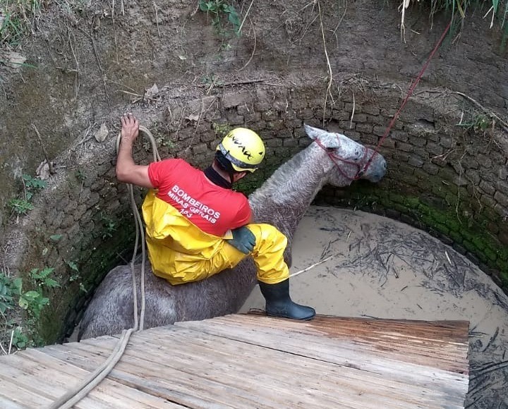
[[[143,218],[154,274],[184,285],[231,269],[250,256],[267,315],[312,319],[315,310],[289,296],[286,237],[270,224],[254,224],[247,197],[231,190],[265,157],[258,134],[247,128],[231,130],[217,146],[213,163],[201,171],[183,159],[135,164],[132,146],[138,133],[138,120],[124,114],[116,177],[149,189]]]

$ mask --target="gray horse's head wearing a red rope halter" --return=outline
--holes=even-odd
[[[378,182],[385,176],[387,163],[381,154],[369,147],[348,138],[341,133],[328,132],[304,125],[309,138],[314,140],[317,149],[325,152],[329,172],[327,183],[334,186],[347,186],[357,179]]]

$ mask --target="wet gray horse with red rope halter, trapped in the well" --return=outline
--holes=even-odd
[[[291,243],[298,223],[323,185],[347,186],[357,178],[371,182],[385,175],[386,161],[368,147],[339,133],[305,126],[314,140],[289,159],[249,197],[256,223],[269,223],[288,238],[284,253],[291,264]],[[209,279],[171,286],[145,264],[145,328],[207,319],[238,312],[256,283],[250,257]],[[140,277],[140,264],[135,266]],[[78,338],[119,334],[133,327],[131,267],[115,267],[88,305]],[[138,282],[138,300],[140,300]]]

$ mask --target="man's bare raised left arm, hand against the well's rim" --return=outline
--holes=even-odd
[[[116,159],[116,178],[124,183],[143,186],[153,189],[154,186],[148,177],[148,166],[137,165],[132,156],[133,143],[138,138],[139,123],[132,114],[121,117],[121,140]]]

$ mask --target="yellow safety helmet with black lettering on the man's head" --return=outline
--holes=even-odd
[[[238,172],[253,172],[265,157],[265,144],[260,136],[247,128],[234,128],[217,146]]]

